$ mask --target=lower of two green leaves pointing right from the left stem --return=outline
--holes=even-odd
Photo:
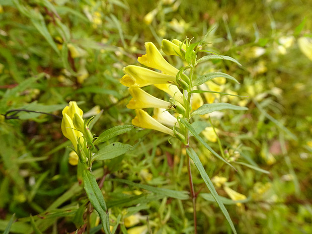
[[[123,144],[120,142],[114,142],[109,145],[105,145],[102,147],[96,154],[94,154],[91,158],[91,161],[95,160],[108,160],[114,159],[121,154],[124,154],[128,150],[132,148],[130,144]]]

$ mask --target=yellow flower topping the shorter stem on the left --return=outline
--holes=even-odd
[[[62,111],[63,119],[61,123],[61,129],[63,135],[68,138],[73,144],[74,148],[77,149],[77,138],[83,140],[83,133],[75,130],[72,122],[75,113],[82,118],[84,112],[77,106],[76,102],[69,102],[69,106],[66,106]]]

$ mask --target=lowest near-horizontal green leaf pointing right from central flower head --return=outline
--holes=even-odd
[[[204,104],[201,107],[199,107],[197,110],[193,111],[191,116],[194,115],[205,115],[214,111],[220,111],[224,109],[229,109],[229,110],[237,110],[237,111],[246,111],[248,110],[247,107],[241,107],[241,106],[236,106],[232,105],[229,103],[210,103],[210,104]]]

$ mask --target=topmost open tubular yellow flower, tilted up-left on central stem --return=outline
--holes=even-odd
[[[179,70],[169,64],[163,55],[159,52],[157,47],[152,42],[145,43],[146,54],[138,57],[137,60],[139,63],[152,67],[155,69],[159,69],[163,71],[165,74],[176,76]]]

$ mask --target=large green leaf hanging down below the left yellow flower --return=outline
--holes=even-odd
[[[104,232],[106,234],[111,234],[106,203],[95,176],[92,175],[89,170],[85,169],[83,171],[83,179],[85,183],[85,191],[91,204],[99,213]]]

